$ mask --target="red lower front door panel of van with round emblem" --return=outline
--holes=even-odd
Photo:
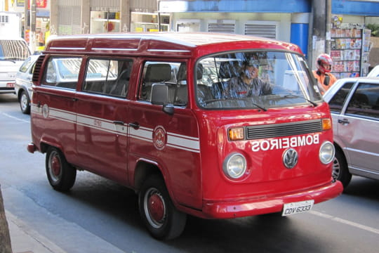
[[[162,112],[161,106],[131,103],[129,153],[157,162],[163,169],[173,200],[201,209],[202,186],[197,120],[188,108],[175,108],[174,115]],[[129,178],[133,179],[133,166]]]

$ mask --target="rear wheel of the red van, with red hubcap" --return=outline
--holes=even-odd
[[[46,152],[46,174],[54,190],[67,191],[74,186],[77,170],[66,160],[58,148],[50,147]]]

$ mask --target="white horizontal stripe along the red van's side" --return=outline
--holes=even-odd
[[[38,107],[36,104],[32,104],[32,113],[43,116],[42,107]],[[92,129],[105,131],[111,134],[119,134],[122,136],[128,136],[130,138],[136,138],[141,141],[153,142],[153,130],[144,126],[140,126],[138,129],[134,129],[128,125],[114,124],[112,120],[102,119],[99,117],[92,117],[89,115],[77,114],[66,110],[60,110],[57,108],[49,108],[48,117],[53,119],[59,119],[64,122],[70,122],[77,124],[78,126],[87,126]],[[129,132],[128,132],[129,129]],[[184,136],[181,134],[167,133],[168,147],[178,148],[180,150],[187,150],[194,153],[200,153],[199,138],[192,136]]]

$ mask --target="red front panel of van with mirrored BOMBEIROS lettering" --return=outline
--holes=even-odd
[[[288,115],[288,108],[281,108],[267,112],[244,111],[244,117],[239,122],[234,120],[235,115],[241,112],[229,111],[197,111],[200,118],[199,128],[201,140],[201,153],[206,153],[211,157],[218,157],[215,160],[209,160],[206,157],[202,160],[202,167],[211,169],[202,169],[204,199],[220,200],[227,198],[253,196],[262,197],[262,195],[272,195],[275,192],[290,193],[297,189],[307,188],[313,184],[325,184],[331,181],[331,166],[319,162],[319,143],[331,140],[333,133],[331,130],[321,133],[299,134],[301,141],[297,150],[299,155],[298,164],[293,169],[284,167],[283,153],[286,150],[283,141],[287,141],[287,136],[262,138],[249,141],[230,141],[227,136],[227,129],[239,126],[265,126],[272,124],[284,124],[288,122],[302,122],[327,117],[325,113],[326,105],[320,105],[312,113],[309,108],[298,108],[292,110]],[[307,113],[305,113],[307,112]],[[304,137],[302,137],[304,136]],[[314,137],[317,136],[317,137]],[[274,139],[281,140],[272,141]],[[206,141],[204,141],[206,140]],[[264,144],[258,145],[257,143]],[[314,143],[316,141],[317,143]],[[270,146],[270,143],[273,145]],[[267,149],[265,152],[257,152],[260,148]],[[260,150],[258,150],[260,151]],[[247,158],[248,176],[241,181],[232,181],[222,172],[222,163],[230,153],[243,153]],[[309,161],[318,161],[310,163]],[[215,171],[218,171],[215,174]],[[218,180],[215,180],[215,177]],[[282,181],[291,183],[280,183]],[[273,184],[277,184],[272,187]]]

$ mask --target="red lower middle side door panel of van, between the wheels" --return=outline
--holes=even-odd
[[[122,98],[77,93],[77,154],[74,164],[128,184],[128,103]]]

